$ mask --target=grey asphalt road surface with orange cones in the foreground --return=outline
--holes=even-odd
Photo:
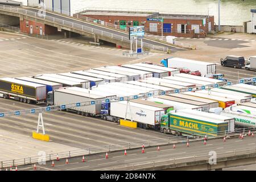
[[[124,151],[109,152],[109,158],[105,158],[105,154],[85,156],[86,162],[82,162],[82,157],[70,158],[69,164],[65,164],[66,159],[55,161],[55,167],[51,167],[52,162],[47,162],[45,165],[38,165],[38,170],[107,170],[118,166],[126,166],[131,164],[141,164],[152,162],[155,160],[168,160],[173,158],[182,158],[185,156],[209,154],[209,151],[218,153],[229,153],[233,155],[233,150],[241,150],[245,148],[253,148],[255,145],[255,137],[245,137],[244,139],[232,138],[223,142],[222,139],[208,140],[204,145],[203,141],[191,142],[189,147],[186,143],[176,144],[176,148],[172,145],[160,146],[160,151],[156,147],[145,148],[145,153],[142,154],[141,148],[136,150],[127,150],[127,155]],[[123,168],[122,168],[123,169]],[[19,167],[19,170],[34,170],[33,165]]]

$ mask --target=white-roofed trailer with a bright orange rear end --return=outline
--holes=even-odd
[[[209,100],[218,101],[218,106],[222,107],[223,109],[235,104],[235,101],[228,98],[218,97],[218,96],[210,96],[208,94],[198,93],[198,92],[183,92],[181,94],[186,94],[189,96],[195,96],[200,98],[207,98]]]

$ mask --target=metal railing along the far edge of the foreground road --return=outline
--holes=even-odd
[[[224,136],[226,138],[232,138],[232,137],[238,137],[241,133],[245,135],[247,132],[255,133],[256,129],[254,128],[247,128],[247,129],[238,129],[234,131],[233,133],[227,133],[226,131],[221,131],[218,133],[217,137],[210,137],[210,135],[207,136],[207,139],[217,139],[217,138],[223,138]],[[201,138],[200,138],[201,137]],[[168,144],[177,144],[177,143],[186,143],[186,142],[196,142],[199,140],[204,140],[205,134],[197,136],[193,135],[187,135],[187,137],[168,137],[168,138],[162,138],[162,139],[151,139],[151,140],[141,140],[138,142],[124,142],[119,144],[110,144],[106,146],[98,146],[98,147],[89,147],[84,148],[80,150],[73,150],[73,151],[65,151],[65,152],[59,152],[57,154],[47,154],[44,158],[44,161],[51,161],[55,160],[57,156],[60,159],[65,158],[73,158],[76,156],[82,156],[82,155],[92,155],[92,154],[101,154],[104,152],[113,152],[113,151],[122,151],[122,150],[130,150],[135,148],[141,148],[143,145],[144,147],[153,147],[153,146],[163,146]],[[29,158],[22,158],[22,159],[13,159],[13,160],[5,160],[0,162],[0,168],[6,168],[10,166],[22,166],[26,164],[34,164],[38,163],[42,160],[42,156],[32,156]]]

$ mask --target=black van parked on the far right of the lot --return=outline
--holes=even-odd
[[[242,68],[245,67],[245,57],[226,56],[225,59],[221,59],[221,65],[223,67]]]

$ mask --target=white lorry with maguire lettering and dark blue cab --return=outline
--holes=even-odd
[[[160,107],[128,101],[104,102],[101,106],[102,119],[118,123],[120,119],[128,119],[138,122],[138,126],[144,129],[159,129],[164,113],[164,109]]]

